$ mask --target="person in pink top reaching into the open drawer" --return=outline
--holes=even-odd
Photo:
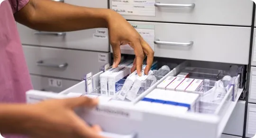
[[[120,62],[120,45],[129,44],[136,55],[132,70],[141,72],[147,56],[148,72],[153,50],[122,16],[110,9],[85,8],[52,0],[0,2],[0,133],[5,138],[101,138],[98,126],[89,127],[72,110],[77,106],[94,107],[97,100],[79,97],[24,104],[25,92],[32,86],[15,20],[35,30],[53,32],[107,27],[114,52],[113,67]]]

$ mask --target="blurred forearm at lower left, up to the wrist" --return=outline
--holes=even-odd
[[[0,133],[26,134],[26,123],[31,117],[25,104],[0,104]]]

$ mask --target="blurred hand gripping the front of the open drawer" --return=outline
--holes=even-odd
[[[73,112],[76,107],[96,104],[96,99],[78,97],[28,105],[33,116],[25,128],[32,138],[102,138],[99,126],[89,127]]]

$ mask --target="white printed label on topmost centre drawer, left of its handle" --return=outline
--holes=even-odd
[[[155,0],[111,0],[110,6],[121,15],[155,16]]]

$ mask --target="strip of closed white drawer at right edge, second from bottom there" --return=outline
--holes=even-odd
[[[250,103],[256,103],[256,67],[251,67],[249,84],[249,98]]]

